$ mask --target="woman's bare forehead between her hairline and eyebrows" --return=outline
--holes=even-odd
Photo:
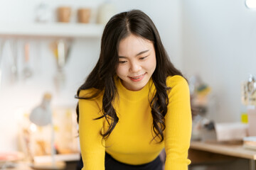
[[[154,45],[150,40],[131,34],[119,42],[118,55],[129,57],[144,50],[152,49],[154,49]]]

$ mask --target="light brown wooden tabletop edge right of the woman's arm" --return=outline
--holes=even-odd
[[[191,149],[222,154],[231,157],[238,157],[250,160],[250,170],[255,170],[256,150],[245,149],[242,143],[218,143],[191,141]]]

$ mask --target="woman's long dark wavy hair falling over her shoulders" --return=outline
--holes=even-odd
[[[170,62],[156,26],[154,26],[153,21],[151,21],[149,16],[144,12],[132,10],[118,13],[110,18],[110,21],[103,31],[100,58],[87,77],[85,83],[78,89],[76,97],[80,99],[92,99],[103,92],[102,116],[95,118],[95,120],[100,118],[105,118],[105,120],[107,120],[109,129],[106,132],[100,132],[102,140],[107,139],[119,120],[117,113],[112,106],[112,101],[115,96],[117,96],[117,87],[114,83],[114,79],[117,77],[116,70],[119,64],[119,42],[131,34],[150,40],[154,43],[156,69],[152,74],[152,80],[156,87],[156,91],[154,97],[149,101],[149,105],[153,117],[152,130],[155,134],[152,140],[159,137],[159,142],[162,142],[164,140],[163,131],[166,128],[164,117],[169,103],[167,91],[170,90],[170,88],[166,86],[166,77],[183,75]],[[90,97],[78,97],[81,90],[91,88],[96,89],[95,94],[92,94]],[[78,106],[76,111],[79,120]]]

